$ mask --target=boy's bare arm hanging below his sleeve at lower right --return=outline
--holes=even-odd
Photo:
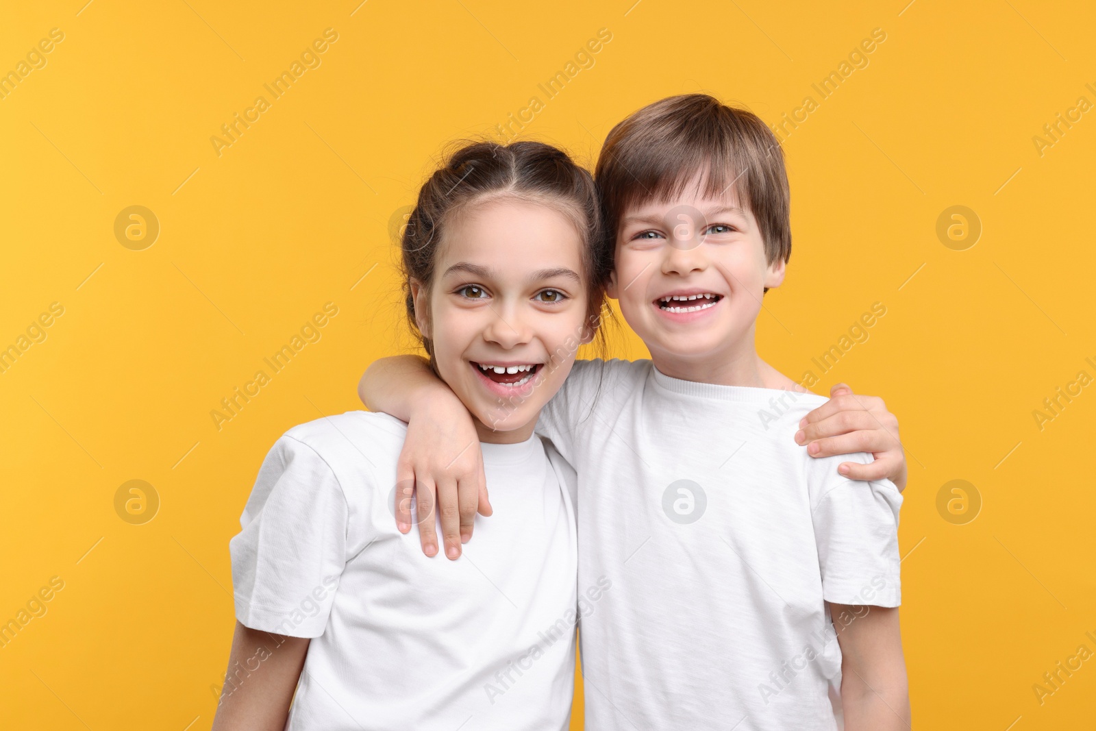
[[[907,731],[910,690],[898,607],[829,606],[842,653],[845,731]]]

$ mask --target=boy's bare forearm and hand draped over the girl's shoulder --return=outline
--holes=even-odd
[[[434,505],[439,503],[445,555],[456,559],[460,544],[472,537],[477,507],[481,515],[491,514],[479,435],[468,409],[418,355],[375,361],[362,376],[357,393],[370,411],[408,422],[396,467],[401,487],[397,527],[407,533],[412,522],[418,523],[423,552],[435,556]],[[415,516],[410,510],[411,486],[415,488]]]

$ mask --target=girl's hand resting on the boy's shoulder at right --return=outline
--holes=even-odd
[[[799,422],[796,443],[812,457],[870,452],[869,465],[842,462],[837,471],[852,480],[887,478],[905,489],[905,453],[898,435],[898,416],[876,396],[858,396],[846,384],[830,389],[830,400]]]

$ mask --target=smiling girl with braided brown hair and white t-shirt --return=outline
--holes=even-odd
[[[533,430],[598,321],[593,181],[544,144],[469,145],[423,185],[402,253],[412,328],[475,418],[504,516],[438,564],[393,525],[414,488],[397,481],[403,422],[353,411],[286,432],[230,541],[215,731],[568,727],[573,473]]]

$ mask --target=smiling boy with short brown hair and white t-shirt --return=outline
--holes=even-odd
[[[609,133],[595,180],[615,237],[609,296],[651,361],[576,363],[538,424],[579,475],[586,727],[835,729],[836,707],[848,731],[907,728],[902,498],[796,445],[801,420],[841,404],[813,414],[824,399],[754,347],[790,255],[778,142],[749,112],[671,98]],[[443,523],[458,502],[470,513],[476,481],[419,468],[470,441],[452,393],[413,358],[375,364],[362,393],[410,422],[401,462],[420,517],[435,482]],[[864,411],[845,413],[852,429],[812,436],[856,429],[884,448]],[[842,473],[864,478],[871,457],[850,459]],[[904,462],[888,475],[904,481]]]

